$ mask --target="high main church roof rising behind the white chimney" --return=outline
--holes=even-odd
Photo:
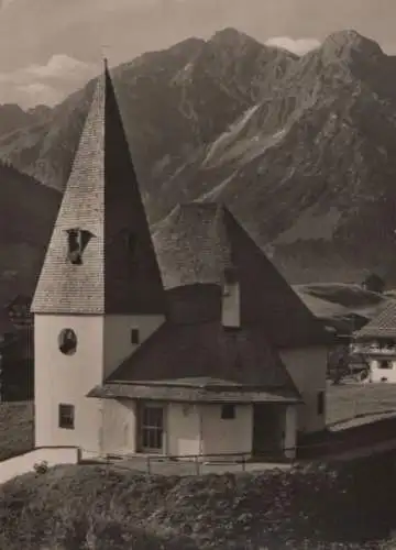
[[[153,237],[164,287],[169,293],[169,311],[175,317],[175,304],[180,300],[178,288],[206,285],[212,300],[213,286],[220,287],[227,268],[238,273],[241,294],[241,324],[265,327],[268,341],[275,346],[299,346],[330,340],[319,321],[276,267],[222,205],[193,202],[178,206]],[[199,300],[204,300],[202,290]],[[194,322],[197,308],[184,308],[184,320]],[[209,297],[206,297],[209,300]],[[218,317],[221,308],[207,308]],[[202,315],[202,307],[199,308]],[[207,314],[208,315],[208,314]],[[189,316],[189,319],[188,319]],[[175,319],[174,319],[175,320]],[[176,319],[177,320],[177,319]],[[200,319],[199,319],[200,320]]]

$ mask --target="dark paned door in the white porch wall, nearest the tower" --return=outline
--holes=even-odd
[[[147,453],[162,453],[164,450],[164,406],[142,403],[139,422],[139,450]]]

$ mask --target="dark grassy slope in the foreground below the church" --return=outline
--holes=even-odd
[[[0,548],[385,548],[374,539],[394,526],[393,465],[393,457],[381,457],[205,477],[58,466],[0,487]]]

